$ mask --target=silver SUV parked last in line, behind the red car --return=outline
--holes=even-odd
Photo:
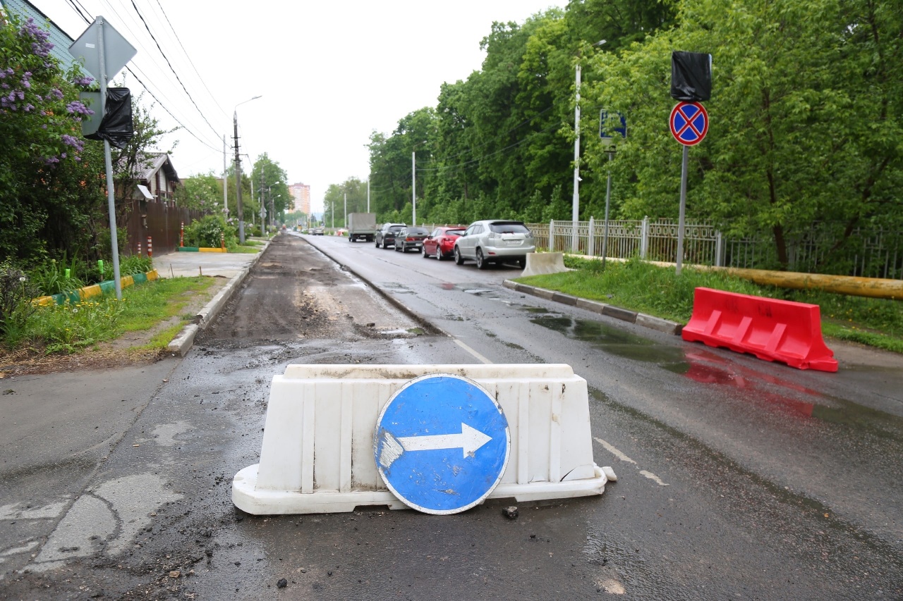
[[[484,219],[474,221],[454,242],[454,262],[477,262],[477,269],[490,263],[517,262],[526,267],[526,254],[534,253],[533,233],[522,221]]]

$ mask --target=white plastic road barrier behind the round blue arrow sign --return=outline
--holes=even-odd
[[[258,515],[405,509],[379,474],[374,435],[392,395],[430,374],[468,378],[504,411],[509,458],[487,498],[604,492],[608,478],[592,460],[586,380],[570,365],[288,365],[273,377],[260,463],[233,478],[232,502]]]

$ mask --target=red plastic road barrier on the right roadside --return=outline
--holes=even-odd
[[[797,369],[837,371],[833,351],[822,338],[818,305],[805,302],[697,288],[693,317],[681,336]]]

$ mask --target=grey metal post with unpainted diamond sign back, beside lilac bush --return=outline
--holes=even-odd
[[[135,56],[135,48],[126,41],[113,25],[98,16],[94,23],[88,25],[69,47],[70,54],[77,60],[84,61],[88,73],[100,84],[100,118],[107,109],[107,83],[116,77],[126,63]],[[119,241],[116,232],[116,197],[113,189],[113,162],[110,157],[110,143],[104,140],[104,164],[107,169],[107,209],[110,221],[110,245],[113,255],[113,280],[116,286],[116,299],[122,300],[122,282],[119,278]]]

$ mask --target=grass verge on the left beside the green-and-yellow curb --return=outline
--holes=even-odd
[[[172,278],[126,288],[122,301],[106,295],[46,307],[23,302],[4,324],[0,344],[8,350],[42,349],[48,355],[75,353],[124,332],[144,331],[180,315],[192,297],[204,293],[213,283],[211,278]],[[165,335],[158,334],[155,339]],[[174,334],[170,336],[172,340]]]

